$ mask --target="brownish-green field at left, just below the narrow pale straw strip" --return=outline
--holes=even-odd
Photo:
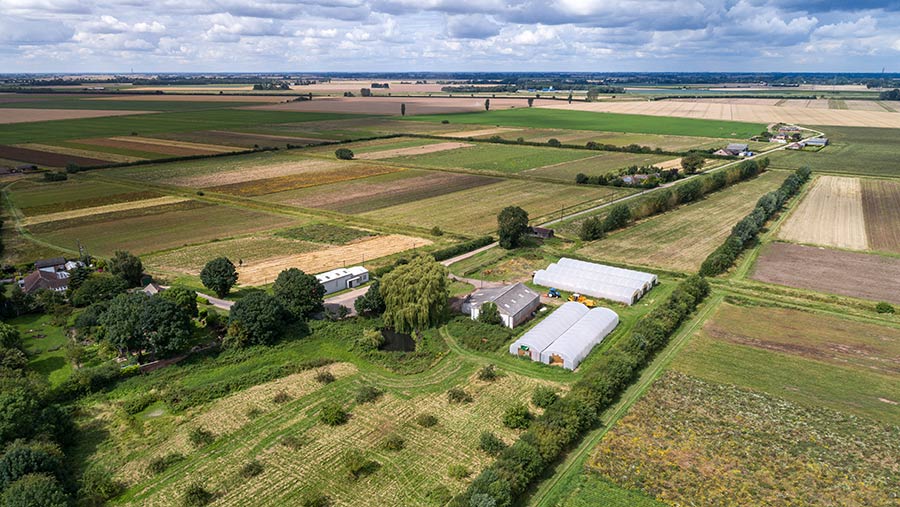
[[[110,256],[116,250],[146,254],[294,223],[281,216],[189,201],[37,224],[29,230],[54,245],[74,248],[81,242],[93,255]]]

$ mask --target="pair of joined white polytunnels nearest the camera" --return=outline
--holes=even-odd
[[[509,346],[509,353],[574,370],[619,324],[609,308],[568,302]]]

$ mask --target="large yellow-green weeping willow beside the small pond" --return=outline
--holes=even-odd
[[[447,268],[431,256],[416,257],[381,280],[384,324],[412,333],[441,322],[447,309]]]

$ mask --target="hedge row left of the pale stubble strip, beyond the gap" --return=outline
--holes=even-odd
[[[809,176],[810,169],[801,167],[785,178],[778,190],[773,190],[760,197],[753,211],[731,229],[731,234],[725,243],[703,261],[700,266],[700,274],[716,276],[728,271],[744,248],[756,239],[763,225],[800,190]]]

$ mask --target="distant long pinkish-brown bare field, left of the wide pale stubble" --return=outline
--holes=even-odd
[[[406,115],[469,113],[484,111],[484,97],[340,97],[286,104],[249,106],[243,109],[265,111],[299,111],[323,113],[388,114],[400,116],[400,104],[406,104]],[[491,109],[528,107],[522,99],[491,99]]]

